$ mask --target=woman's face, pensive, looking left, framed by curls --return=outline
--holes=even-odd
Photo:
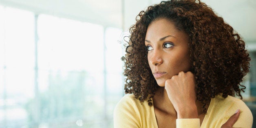
[[[189,36],[169,20],[159,19],[148,26],[148,63],[159,86],[165,86],[167,79],[181,71],[190,71],[188,41]]]

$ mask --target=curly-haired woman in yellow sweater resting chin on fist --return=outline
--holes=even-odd
[[[115,127],[252,127],[241,100],[245,42],[210,7],[161,2],[141,11],[130,33],[122,57],[129,94],[115,108]],[[232,115],[239,118],[230,123]]]

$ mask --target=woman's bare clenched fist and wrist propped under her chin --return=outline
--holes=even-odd
[[[190,71],[179,72],[165,82],[165,89],[180,118],[198,118],[196,107],[195,77]]]

